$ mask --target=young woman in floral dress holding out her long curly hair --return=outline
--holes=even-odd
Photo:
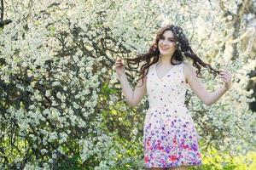
[[[184,58],[191,59],[197,71]],[[201,165],[198,134],[184,105],[187,84],[203,103],[212,105],[230,89],[230,72],[216,71],[204,63],[189,47],[183,30],[173,25],[160,28],[148,53],[126,60],[129,68],[130,64],[138,66],[143,62],[134,91],[125,76],[122,59],[116,60],[115,71],[130,106],[136,106],[148,94],[149,108],[143,127],[145,167],[185,170]],[[209,93],[198,78],[201,66],[206,67],[214,78],[219,74],[224,85]]]

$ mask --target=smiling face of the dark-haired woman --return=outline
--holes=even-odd
[[[165,31],[158,42],[158,48],[162,55],[172,55],[175,51],[175,41],[172,31]]]

